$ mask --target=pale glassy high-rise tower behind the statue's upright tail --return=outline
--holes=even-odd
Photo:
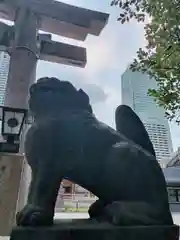
[[[156,81],[146,74],[127,69],[122,74],[121,87],[122,104],[130,106],[140,117],[154,145],[158,162],[165,166],[173,149],[165,111],[148,95],[148,89],[157,88]]]

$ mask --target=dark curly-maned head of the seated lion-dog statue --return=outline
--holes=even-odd
[[[64,110],[92,112],[88,95],[67,81],[40,78],[30,87],[29,93],[29,108],[35,116],[60,113]]]

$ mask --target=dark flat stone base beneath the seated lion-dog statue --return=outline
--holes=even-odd
[[[178,240],[179,227],[115,227],[92,220],[61,220],[52,227],[13,229],[10,240]]]

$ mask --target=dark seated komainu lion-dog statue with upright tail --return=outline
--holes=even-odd
[[[96,119],[83,90],[56,78],[41,78],[31,86],[29,108],[34,123],[25,154],[32,181],[27,205],[17,214],[18,225],[53,224],[64,178],[98,197],[89,208],[97,222],[173,224],[163,173],[131,108],[117,108],[115,131]]]

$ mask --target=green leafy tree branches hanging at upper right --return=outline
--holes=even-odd
[[[155,78],[158,89],[149,89],[167,117],[179,121],[180,112],[180,2],[178,0],[113,0],[122,24],[146,21],[147,45],[137,51],[130,68]],[[148,20],[147,19],[147,20]]]

